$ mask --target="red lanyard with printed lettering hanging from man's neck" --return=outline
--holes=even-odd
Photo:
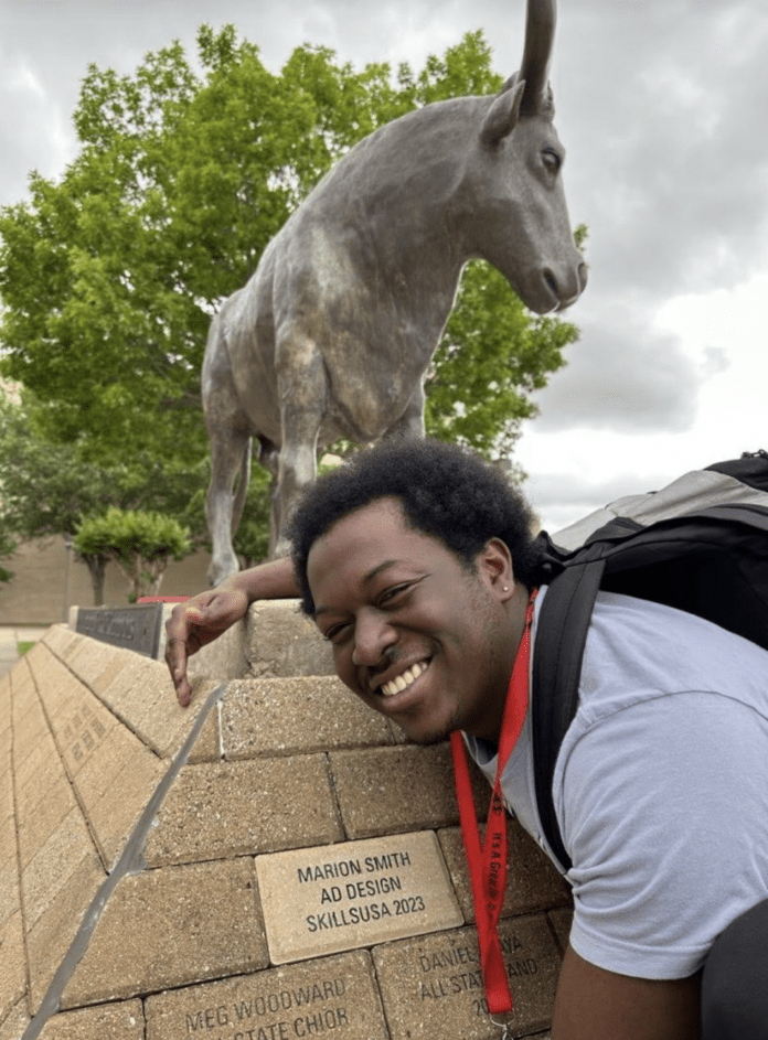
[[[492,1015],[514,1010],[497,931],[506,882],[506,814],[501,796],[501,776],[518,742],[527,711],[531,623],[533,621],[535,598],[536,590],[534,589],[529,600],[525,630],[518,647],[518,656],[515,657],[506,694],[504,720],[499,740],[499,764],[488,811],[486,840],[482,845],[480,844],[478,817],[474,812],[472,786],[467,769],[463,738],[458,731],[451,733],[450,737],[454,750],[454,769],[456,771],[456,792],[461,815],[461,830],[472,879],[474,914],[480,940],[480,961],[486,982],[488,1008]]]

